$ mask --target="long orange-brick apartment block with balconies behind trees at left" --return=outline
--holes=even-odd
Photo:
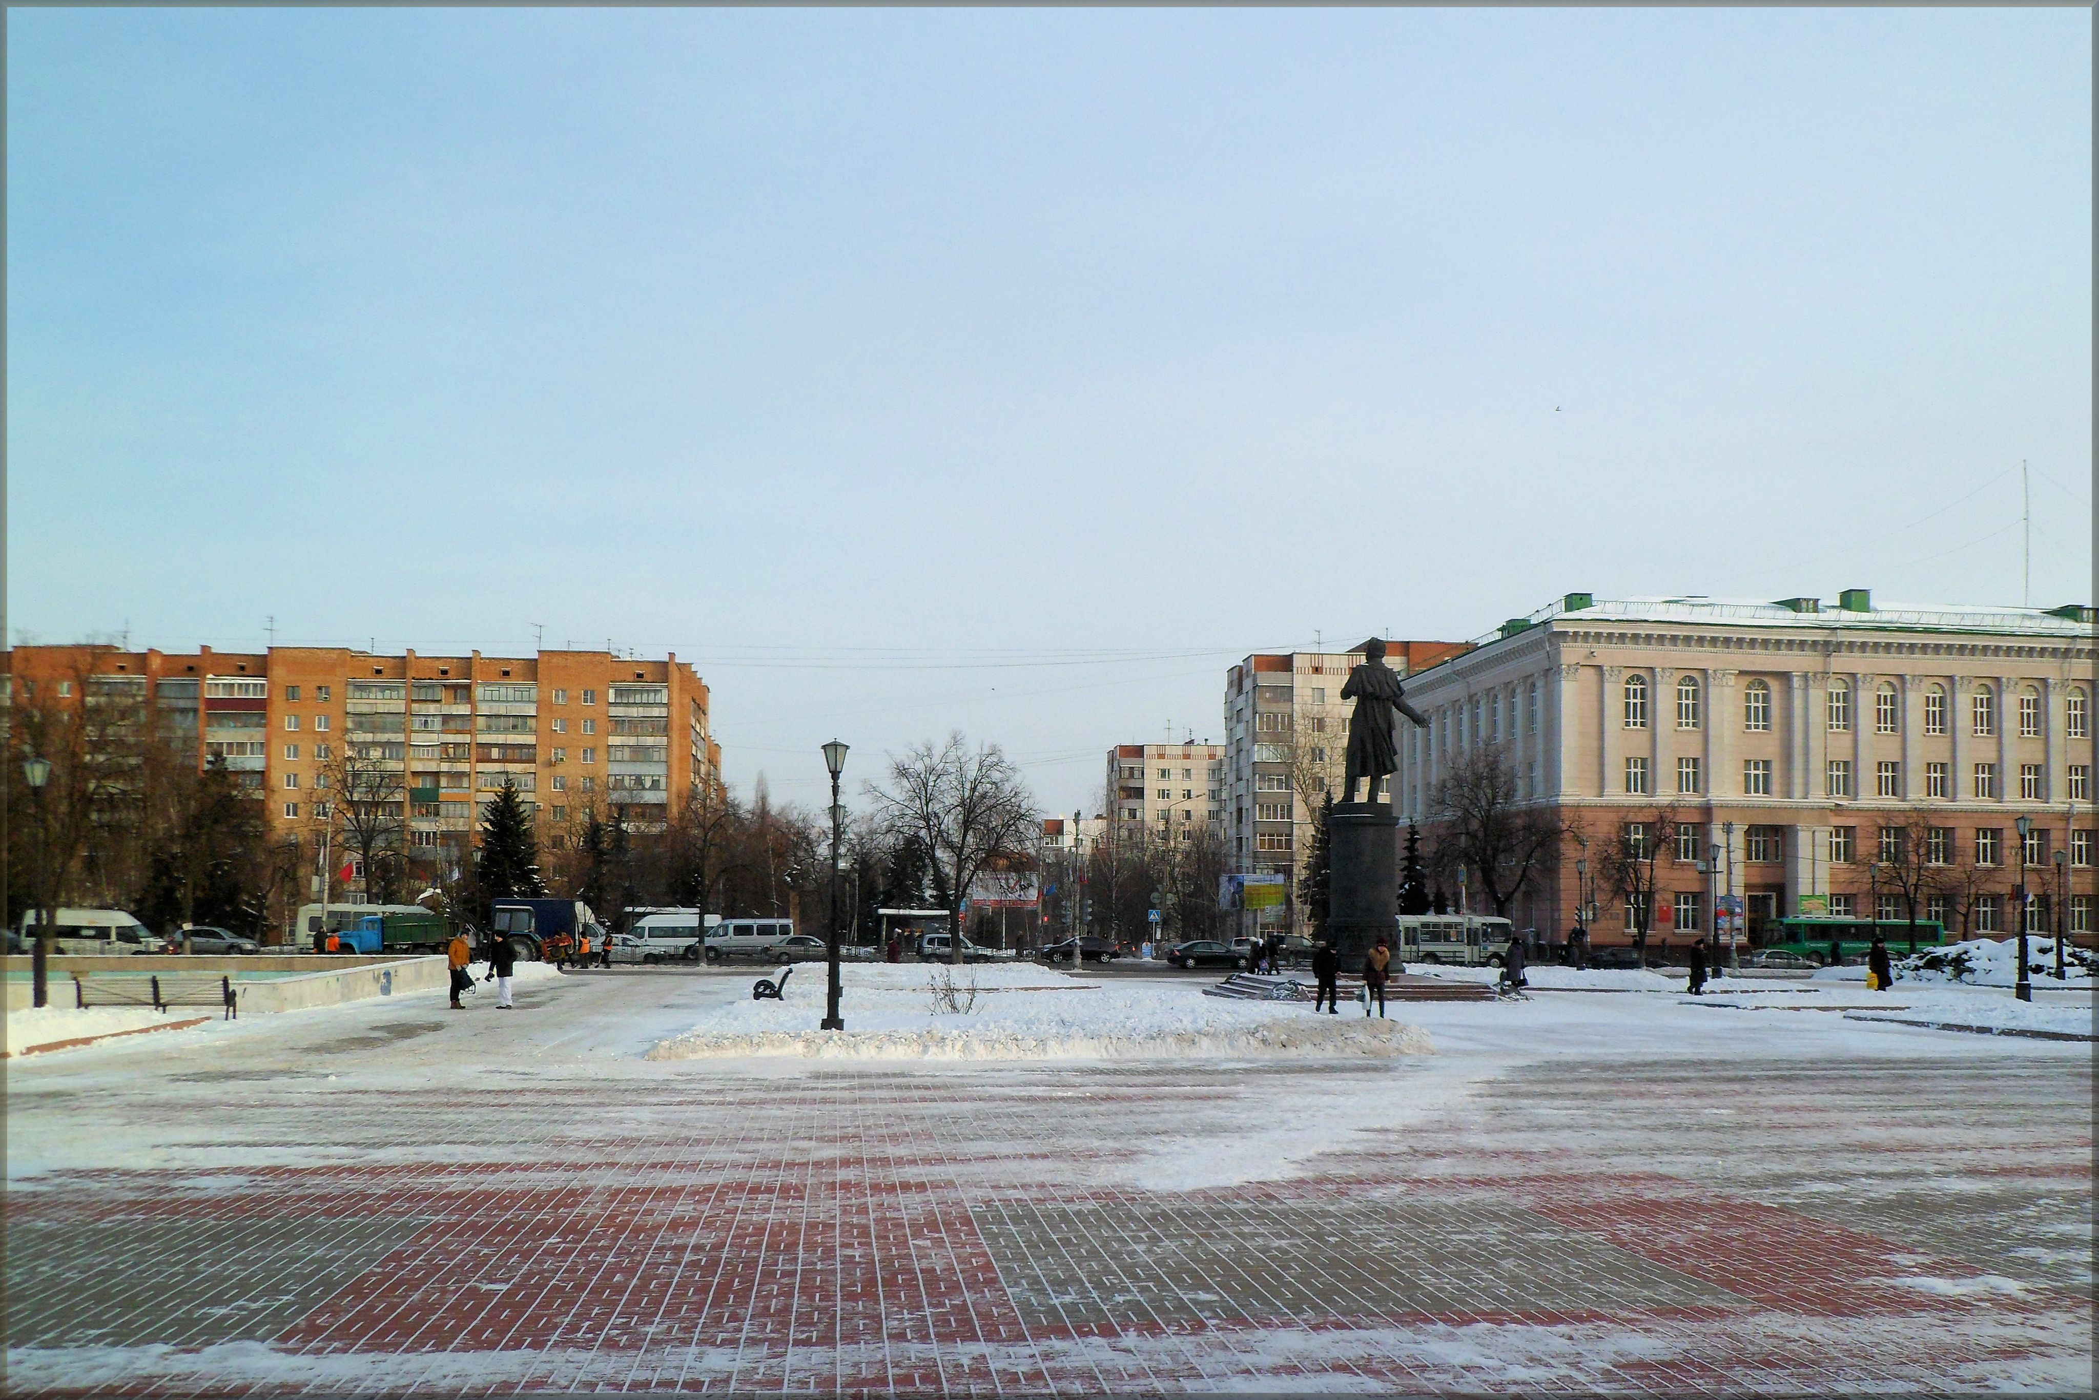
[[[317,829],[327,764],[348,747],[399,770],[409,848],[464,848],[504,779],[542,814],[617,808],[659,827],[674,802],[720,785],[707,686],[670,655],[386,657],[340,646],[262,653],[15,646],[6,697],[132,701],[197,764],[222,760],[273,831]]]

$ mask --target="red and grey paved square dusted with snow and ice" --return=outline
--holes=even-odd
[[[2093,1383],[2089,1047],[1541,993],[1394,1060],[644,1058],[749,982],[10,1062],[8,1392]]]

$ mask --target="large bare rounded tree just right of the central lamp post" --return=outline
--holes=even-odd
[[[1035,850],[1041,816],[1020,770],[995,743],[970,749],[955,730],[945,743],[915,743],[890,758],[886,785],[867,785],[884,814],[917,835],[947,909],[949,955],[961,961],[961,909],[970,884],[997,863]]]

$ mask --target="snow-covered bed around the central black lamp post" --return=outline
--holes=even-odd
[[[1429,1054],[1419,1026],[1364,1016],[1316,1016],[1295,1003],[1222,1001],[1194,984],[1104,984],[1041,968],[852,966],[846,1031],[823,1020],[823,970],[798,974],[783,1001],[709,1007],[651,1060],[819,1056],[840,1060],[1041,1060],[1178,1056],[1383,1058]],[[953,980],[957,1012],[938,1010]],[[972,997],[974,989],[974,997]]]

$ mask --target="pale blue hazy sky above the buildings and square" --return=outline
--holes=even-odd
[[[2021,460],[2091,598],[2082,8],[6,25],[15,638],[542,623],[1091,810],[1316,634],[2017,602]]]

